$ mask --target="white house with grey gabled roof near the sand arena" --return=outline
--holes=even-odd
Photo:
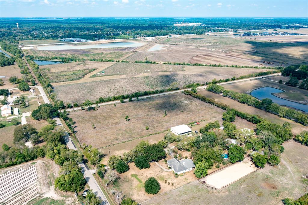
[[[193,168],[195,168],[195,164],[193,163],[193,160],[191,159],[169,159],[167,160],[167,164],[169,169],[174,171],[175,174],[182,174],[187,171],[192,171]]]

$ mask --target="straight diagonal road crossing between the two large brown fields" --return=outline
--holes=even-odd
[[[262,78],[262,77],[268,77],[268,76],[273,76],[273,75],[280,75],[281,73],[274,73],[274,74],[269,74],[269,75],[263,75],[263,76],[258,76],[258,77],[253,77],[253,78],[245,78],[245,79],[241,79],[241,80],[234,80],[234,81],[228,81],[228,82],[221,82],[219,83],[220,85],[224,85],[224,84],[228,84],[228,83],[235,83],[235,82],[241,82],[241,81],[248,81],[248,80],[252,80],[252,79],[257,79],[257,78]],[[199,86],[198,89],[205,89],[206,86]],[[191,90],[191,88],[186,88],[185,90]],[[166,95],[166,94],[172,94],[172,93],[179,93],[182,92],[182,90],[174,90],[174,91],[170,91],[170,92],[164,92],[164,93],[158,93],[158,94],[152,94],[152,95],[146,95],[146,96],[142,96],[139,99],[144,99],[144,98],[151,98],[151,97],[156,97],[156,96],[160,96],[160,95]],[[132,100],[136,100],[137,98],[132,98]],[[128,99],[124,99],[124,102],[128,102]],[[120,100],[115,100],[115,101],[111,101],[111,102],[103,102],[103,103],[99,103],[99,106],[103,106],[103,105],[110,105],[110,104],[114,104],[114,103],[120,103]],[[90,107],[96,107],[95,105],[91,105]],[[81,110],[81,107],[75,107],[75,108],[70,108],[70,109],[66,109],[67,112],[70,111],[76,111],[76,110]]]

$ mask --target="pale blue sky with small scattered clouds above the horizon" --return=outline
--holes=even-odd
[[[3,17],[308,18],[308,0],[0,0]]]

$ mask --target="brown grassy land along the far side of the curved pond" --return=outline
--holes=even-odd
[[[278,80],[278,81],[279,79],[282,79],[282,78],[283,76],[271,77],[272,80]],[[252,80],[252,81],[229,83],[229,84],[225,84],[222,86],[227,90],[234,90],[240,93],[247,93],[247,91],[249,90],[253,90],[258,87],[263,87],[263,86],[275,87],[275,88],[284,90],[285,92],[275,93],[274,95],[281,97],[281,98],[285,98],[287,100],[294,101],[294,102],[308,104],[308,96],[306,96],[308,93],[307,90],[300,89],[298,87],[287,86],[285,84],[279,84],[278,82],[273,82],[270,80],[257,79],[257,80]]]

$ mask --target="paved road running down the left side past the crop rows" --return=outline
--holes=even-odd
[[[30,86],[30,87],[35,87],[39,89],[39,92],[41,93],[41,96],[44,100],[45,103],[50,103],[47,95],[45,94],[45,91],[43,90],[42,86]],[[57,125],[63,126],[61,120],[59,118],[54,118],[56,120]],[[64,137],[65,143],[67,144],[67,147],[72,150],[77,150],[76,146],[74,145],[73,141],[71,140],[70,136],[65,132],[65,137]],[[93,192],[97,193],[97,196],[99,196],[102,200],[102,204],[109,204],[109,202],[106,199],[106,196],[104,195],[103,191],[99,187],[98,183],[96,182],[94,176],[91,173],[91,170],[89,170],[84,163],[80,163],[79,166],[81,167],[83,176],[86,178],[87,183],[90,187],[90,189],[93,190]]]

